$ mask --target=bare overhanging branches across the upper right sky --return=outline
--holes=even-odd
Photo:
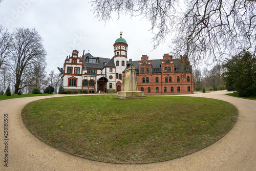
[[[100,20],[113,13],[141,16],[151,22],[155,47],[174,37],[171,50],[198,63],[222,60],[225,54],[256,52],[255,0],[93,0]]]

